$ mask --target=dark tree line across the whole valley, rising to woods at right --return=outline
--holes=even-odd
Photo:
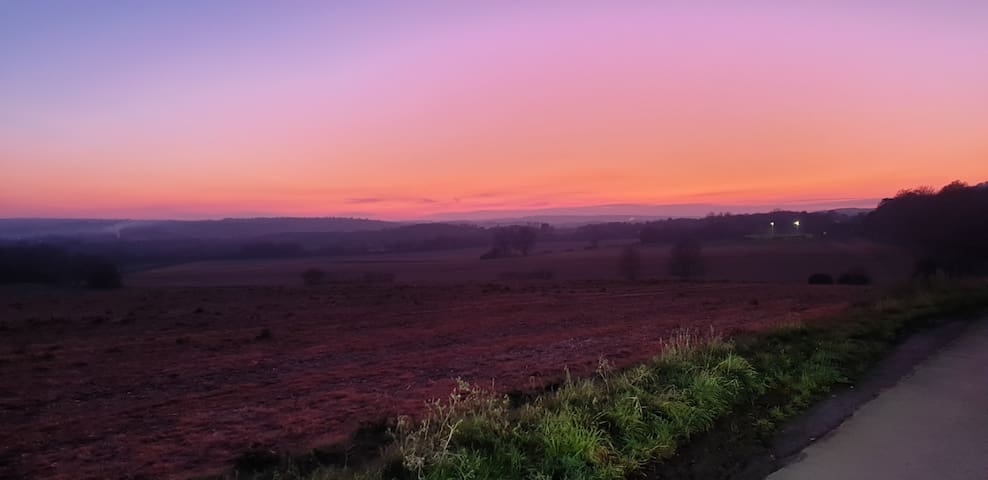
[[[813,237],[818,239],[868,238],[911,249],[916,271],[930,275],[967,275],[988,271],[988,184],[954,182],[940,190],[903,190],[885,199],[868,214],[839,211],[773,211],[757,214],[711,214],[704,218],[670,218],[650,222],[610,222],[576,228],[547,224],[483,227],[471,224],[426,223],[351,232],[283,232],[247,238],[169,238],[167,240],[87,240],[73,237],[45,239],[63,250],[52,258],[74,265],[95,265],[93,258],[107,259],[128,269],[207,259],[281,258],[354,255],[377,252],[413,252],[488,247],[484,258],[526,256],[538,242],[584,241],[594,248],[602,240],[637,238],[642,244],[673,245],[684,241],[719,242],[748,238]],[[800,224],[796,225],[795,221]],[[222,222],[221,222],[222,223]],[[222,223],[227,225],[230,222]],[[219,224],[218,224],[219,225]],[[5,247],[11,248],[11,247]],[[78,266],[56,268],[36,255],[0,258],[6,278],[44,278],[45,282],[79,280],[93,270]],[[688,254],[689,249],[685,252]],[[33,253],[32,253],[33,252]],[[73,252],[73,253],[67,253]],[[688,255],[687,255],[688,256]],[[89,258],[90,260],[81,260]],[[28,260],[30,259],[30,260]],[[35,264],[26,268],[24,262]],[[48,263],[46,263],[48,262]],[[16,272],[16,273],[13,273]],[[33,272],[33,273],[32,273]],[[53,278],[59,280],[51,280]],[[9,282],[8,282],[9,283]]]

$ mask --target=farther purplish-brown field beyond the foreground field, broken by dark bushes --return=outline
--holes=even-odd
[[[370,254],[350,257],[231,260],[195,262],[133,274],[129,285],[138,286],[233,286],[298,285],[299,275],[318,267],[334,273],[388,272],[399,282],[464,283],[490,282],[504,274],[548,270],[558,280],[617,279],[621,245],[632,240],[603,243],[587,250],[584,242],[537,245],[529,257],[480,260],[486,249],[441,252]],[[665,278],[668,245],[642,247],[642,275]],[[825,272],[835,277],[850,268],[862,267],[876,283],[903,280],[912,273],[908,254],[867,242],[748,242],[708,245],[704,248],[705,278],[711,280],[804,283],[810,274]]]

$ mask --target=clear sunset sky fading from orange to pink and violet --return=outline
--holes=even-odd
[[[0,0],[0,217],[873,206],[988,180],[988,2]]]

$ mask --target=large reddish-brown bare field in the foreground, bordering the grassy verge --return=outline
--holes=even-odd
[[[0,290],[0,477],[186,478],[251,447],[345,440],[451,380],[525,389],[678,328],[818,319],[875,295],[802,284]]]

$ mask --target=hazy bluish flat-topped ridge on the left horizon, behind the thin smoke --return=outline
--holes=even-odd
[[[233,239],[294,232],[382,230],[399,223],[363,218],[227,218],[222,220],[0,219],[0,238],[103,237],[125,240]]]

